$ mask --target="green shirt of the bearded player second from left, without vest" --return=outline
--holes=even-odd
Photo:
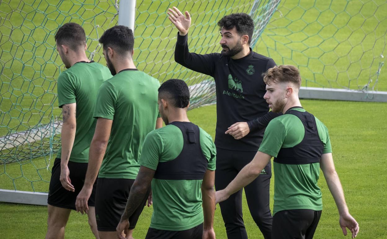
[[[94,117],[113,124],[98,177],[137,177],[142,144],[156,127],[159,87],[157,79],[137,69],[122,70],[101,85]]]

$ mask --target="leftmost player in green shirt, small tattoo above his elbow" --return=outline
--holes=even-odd
[[[65,227],[86,175],[89,147],[96,126],[93,110],[99,86],[111,77],[108,68],[86,57],[84,29],[70,22],[55,34],[57,50],[68,69],[58,77],[58,101],[63,125],[57,158],[51,171],[48,191],[46,238],[64,238]],[[88,217],[90,228],[98,238],[94,213],[95,185],[91,185]]]

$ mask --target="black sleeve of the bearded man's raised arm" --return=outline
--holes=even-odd
[[[214,53],[199,55],[188,51],[188,34],[177,34],[175,62],[188,69],[214,77]]]

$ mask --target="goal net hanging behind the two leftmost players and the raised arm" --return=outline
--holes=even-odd
[[[258,39],[278,3],[137,1],[135,64],[161,82],[184,79],[192,94],[191,108],[215,103],[211,77],[175,63],[177,31],[167,19],[167,9],[176,6],[191,13],[190,50],[207,53],[219,51],[217,21],[221,17],[232,12],[250,13]],[[88,55],[105,65],[98,39],[117,24],[119,11],[127,12],[112,0],[6,0],[0,2],[0,9],[0,189],[47,192],[62,122],[56,80],[65,70],[55,50],[54,35],[66,22],[82,25]]]

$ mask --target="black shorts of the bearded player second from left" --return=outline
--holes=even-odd
[[[128,201],[130,188],[134,179],[105,179],[99,178],[96,193],[96,220],[97,228],[102,232],[113,232],[121,220]],[[146,204],[151,188],[140,206],[129,217],[129,229],[134,229],[137,220]]]

